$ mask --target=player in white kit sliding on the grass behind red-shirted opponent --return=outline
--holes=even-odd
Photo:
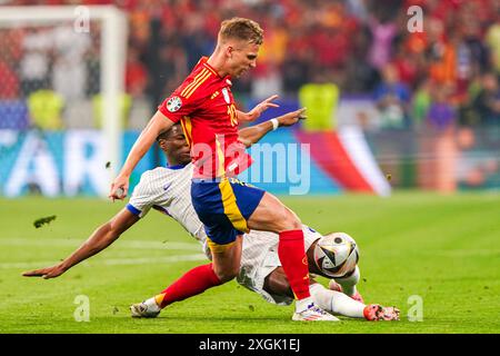
[[[302,112],[302,110],[297,110],[273,120],[277,120],[279,126],[291,126],[299,120]],[[260,140],[274,125],[271,121],[267,121],[242,129],[239,131],[240,140],[249,147]],[[186,144],[181,127],[176,125],[160,135],[158,144],[167,155],[169,167],[159,167],[142,174],[141,180],[136,187],[127,207],[108,222],[101,225],[86,243],[60,264],[27,271],[23,276],[38,276],[48,279],[62,275],[72,266],[107,248],[122,233],[146,216],[151,208],[172,217],[181,224],[192,237],[203,245],[203,250],[210,258],[210,250],[206,246],[207,236],[203,225],[198,219],[191,204],[190,179],[192,165],[190,164],[189,146]],[[312,257],[314,248],[317,248],[318,241],[322,236],[307,226],[303,226],[303,234],[310,271],[328,277],[316,266]],[[269,303],[289,305],[293,301],[293,294],[281,267],[277,247],[278,237],[276,234],[251,230],[243,239],[241,268],[237,280],[248,289],[260,294]],[[329,288],[323,287],[311,278],[311,296],[317,305],[333,314],[348,317],[364,317],[368,320],[393,320],[399,318],[397,308],[382,307],[376,304],[364,305],[356,289],[358,280],[358,266],[348,271],[343,278],[332,279]],[[132,305],[132,316],[158,316],[161,308],[157,300],[168,300],[166,297],[170,294],[169,288],[156,297]],[[172,299],[176,299],[176,296]],[[162,305],[161,307],[164,306]]]

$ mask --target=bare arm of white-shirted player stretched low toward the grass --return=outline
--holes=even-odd
[[[64,258],[60,264],[29,270],[23,273],[24,277],[43,277],[44,279],[56,278],[82,260],[100,253],[111,245],[122,233],[129,229],[139,220],[139,217],[127,209],[122,209],[111,220],[101,225],[87,241],[84,241],[74,253]]]

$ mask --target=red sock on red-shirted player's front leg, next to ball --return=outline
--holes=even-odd
[[[300,300],[309,297],[309,265],[302,230],[280,233],[278,256],[296,298]]]

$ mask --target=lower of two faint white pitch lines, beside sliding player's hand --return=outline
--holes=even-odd
[[[168,257],[154,257],[154,258],[112,258],[112,259],[97,259],[92,261],[82,261],[82,266],[130,266],[130,265],[151,265],[151,264],[173,264],[191,260],[206,260],[207,256],[203,254],[194,255],[178,255]],[[46,266],[53,266],[56,261],[34,261],[34,263],[7,263],[0,264],[0,269],[29,269],[29,268],[43,268]]]

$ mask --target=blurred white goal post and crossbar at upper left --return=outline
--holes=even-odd
[[[89,23],[98,22],[94,33]],[[24,6],[0,7],[0,30],[72,27],[74,32],[90,32],[99,36],[93,43],[100,43],[100,75],[98,82],[102,100],[101,129],[104,135],[106,156],[109,160],[110,179],[121,166],[122,126],[120,120],[120,97],[124,92],[124,70],[127,59],[128,22],[123,11],[113,6]],[[73,33],[74,34],[74,33]],[[3,51],[3,49],[2,49]],[[68,102],[71,106],[71,100]]]

